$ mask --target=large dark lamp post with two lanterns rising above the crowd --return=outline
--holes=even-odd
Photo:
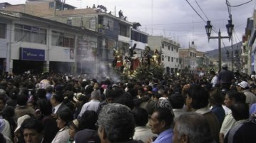
[[[228,36],[221,36],[220,29],[219,29],[219,32],[218,32],[217,36],[210,36],[210,33],[212,32],[212,28],[213,28],[213,26],[210,23],[210,21],[207,21],[207,25],[205,26],[205,31],[206,31],[206,34],[208,36],[208,41],[210,40],[210,38],[217,38],[218,39],[219,70],[221,70],[221,43],[220,43],[220,39],[222,39],[222,38],[230,39],[230,37],[232,36],[232,30],[234,28],[234,25],[232,24],[232,20],[228,20],[228,23],[226,25]]]

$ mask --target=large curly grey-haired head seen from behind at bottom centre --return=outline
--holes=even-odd
[[[126,142],[133,137],[135,121],[126,105],[111,103],[103,106],[97,124],[101,143]]]

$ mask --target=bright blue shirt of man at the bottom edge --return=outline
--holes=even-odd
[[[166,129],[161,132],[153,143],[172,143],[173,129]]]

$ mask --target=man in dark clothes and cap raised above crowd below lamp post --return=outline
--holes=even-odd
[[[222,88],[230,89],[232,80],[235,78],[232,71],[227,70],[227,63],[222,63],[222,70],[220,70],[219,75],[217,76],[217,81],[220,83]]]

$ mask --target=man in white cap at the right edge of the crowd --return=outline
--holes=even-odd
[[[249,105],[249,108],[253,103],[256,102],[256,96],[252,92],[250,92],[249,84],[246,81],[242,81],[241,83],[238,83],[237,90],[245,94],[246,96],[245,102]]]

